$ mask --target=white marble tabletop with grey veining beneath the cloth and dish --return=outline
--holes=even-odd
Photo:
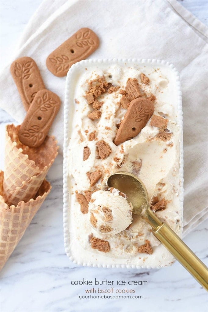
[[[179,1],[207,24],[207,1]],[[27,5],[25,5],[27,3]],[[18,37],[41,0],[1,0],[0,68],[9,61]],[[1,150],[5,124],[15,122],[0,110]],[[3,153],[0,168],[3,169]],[[161,270],[101,269],[73,264],[65,255],[62,226],[62,156],[50,169],[52,191],[33,218],[22,240],[0,273],[0,311],[206,311],[207,293],[179,264]],[[201,223],[184,241],[206,265],[207,222]],[[86,287],[71,285],[72,280],[114,280],[115,290],[133,289],[137,299],[79,299]],[[116,286],[116,280],[147,281],[147,285]],[[95,287],[97,289],[97,287]],[[111,286],[100,286],[110,289]],[[91,294],[98,295],[98,294]],[[129,295],[129,294],[123,294]]]

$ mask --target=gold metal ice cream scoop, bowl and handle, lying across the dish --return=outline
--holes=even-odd
[[[109,176],[107,184],[127,195],[127,201],[131,202],[133,206],[132,213],[141,215],[151,225],[153,235],[208,290],[208,268],[180,237],[152,212],[148,204],[148,193],[144,183],[134,174],[119,171]]]

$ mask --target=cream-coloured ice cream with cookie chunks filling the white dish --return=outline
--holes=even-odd
[[[71,75],[71,76],[70,76]],[[181,236],[181,111],[168,65],[84,61],[68,74],[67,168],[71,258],[94,266],[162,267],[173,256],[125,194],[106,185],[128,171],[157,217]]]

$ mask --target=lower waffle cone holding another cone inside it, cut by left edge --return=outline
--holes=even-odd
[[[50,190],[50,183],[44,180],[28,202],[21,201],[9,207],[3,198],[3,172],[0,171],[0,271]]]

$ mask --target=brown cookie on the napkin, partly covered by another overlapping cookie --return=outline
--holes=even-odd
[[[19,91],[22,103],[27,111],[36,93],[45,89],[36,62],[28,56],[13,61],[10,72]]]

